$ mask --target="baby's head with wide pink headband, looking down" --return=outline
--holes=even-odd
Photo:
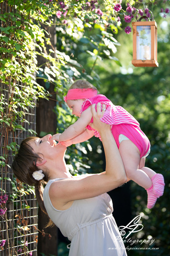
[[[85,80],[77,80],[69,88],[64,100],[72,110],[72,113],[80,117],[83,102],[96,95],[97,89],[93,84]]]

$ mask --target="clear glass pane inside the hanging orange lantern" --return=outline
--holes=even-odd
[[[150,26],[136,26],[136,59],[151,60]]]

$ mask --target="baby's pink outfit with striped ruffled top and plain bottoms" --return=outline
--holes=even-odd
[[[111,125],[111,131],[118,148],[119,135],[123,134],[139,148],[140,157],[142,158],[145,156],[150,148],[150,142],[144,132],[141,131],[139,122],[121,106],[113,105],[106,96],[98,94],[90,99],[86,99],[82,104],[80,113],[85,111],[92,104],[97,104],[98,102],[101,102],[101,104],[105,104],[106,106],[106,111],[100,120]],[[92,122],[93,118],[91,119],[91,123]],[[90,125],[86,128],[88,130],[94,130]],[[94,131],[94,136],[101,140],[99,132],[96,130]]]

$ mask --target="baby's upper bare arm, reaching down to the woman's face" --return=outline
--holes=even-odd
[[[51,140],[67,141],[77,137],[85,131],[85,128],[91,121],[91,118],[91,108],[87,108],[82,112],[80,118],[73,125],[70,125],[62,134],[56,134],[56,136],[53,135]]]

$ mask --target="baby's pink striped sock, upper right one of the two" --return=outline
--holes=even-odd
[[[152,184],[153,184],[153,192],[157,196],[161,196],[164,194],[164,177],[160,173],[157,173],[152,178]]]

